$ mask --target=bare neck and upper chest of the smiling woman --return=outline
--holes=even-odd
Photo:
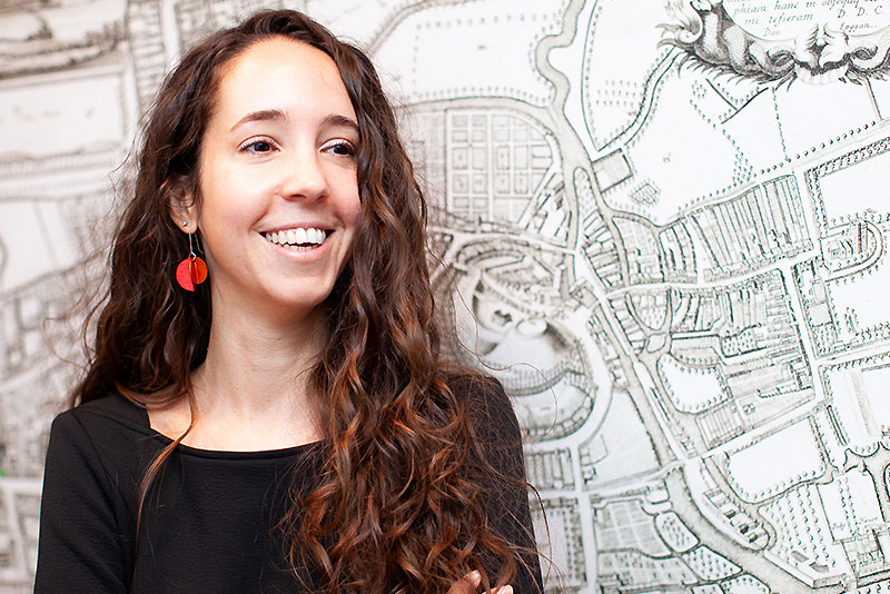
[[[196,423],[182,443],[261,451],[320,439],[309,375],[326,339],[322,311],[280,324],[246,311],[229,316],[215,310],[207,358],[191,376]],[[180,399],[167,418],[180,427],[176,435],[160,415],[149,416],[152,427],[178,437],[191,415],[187,399]]]

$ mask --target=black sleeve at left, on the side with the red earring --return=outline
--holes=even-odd
[[[52,423],[40,505],[34,593],[126,593],[118,489],[76,410]]]

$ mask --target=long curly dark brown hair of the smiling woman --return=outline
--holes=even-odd
[[[455,382],[485,379],[442,360],[426,207],[394,111],[368,58],[299,12],[263,11],[210,36],[165,80],[115,236],[95,352],[72,404],[119,392],[147,407],[185,397],[194,413],[189,377],[207,354],[210,291],[205,284],[186,294],[174,284],[188,244],[169,205],[184,187],[200,200],[198,157],[221,67],[270,37],[307,43],[334,60],[360,138],[362,216],[350,258],[324,304],[329,340],[310,369],[313,393],[323,395],[315,404],[329,442],[327,463],[314,491],[294,487],[280,522],[290,568],[296,574],[308,563],[332,593],[442,593],[474,570],[486,587],[510,583],[524,553],[485,521],[491,494],[479,477],[494,468],[478,445],[484,428],[473,420],[468,390],[453,389]],[[140,515],[186,434],[147,469]],[[492,560],[501,567],[496,576],[483,567]]]

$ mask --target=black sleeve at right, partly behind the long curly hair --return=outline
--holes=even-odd
[[[511,582],[513,591],[538,594],[543,592],[543,582],[528,505],[520,424],[510,397],[496,379],[486,378],[482,385],[475,384],[471,393],[478,410],[476,435],[485,458],[483,467],[493,471],[483,475],[488,495],[486,518],[491,528],[518,552],[516,576]]]

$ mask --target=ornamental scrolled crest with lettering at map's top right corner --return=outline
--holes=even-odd
[[[890,72],[884,0],[670,0],[662,43],[760,81],[860,83]]]

